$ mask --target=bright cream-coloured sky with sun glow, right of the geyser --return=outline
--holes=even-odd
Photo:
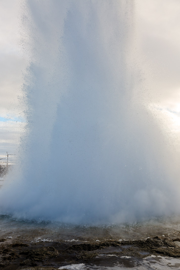
[[[144,0],[138,6],[142,68],[153,93],[150,110],[180,151],[180,2]]]

